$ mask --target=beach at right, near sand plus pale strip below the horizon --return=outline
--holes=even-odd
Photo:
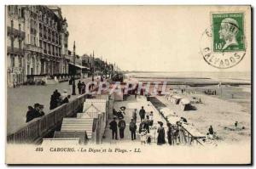
[[[237,144],[251,139],[251,85],[236,85],[236,82],[250,82],[250,76],[236,74],[229,78],[224,78],[227,75],[216,78],[216,74],[215,77],[198,74],[193,76],[191,73],[184,75],[172,76],[172,74],[159,73],[151,76],[147,73],[137,73],[137,75],[133,73],[128,76],[137,82],[186,82],[188,85],[167,85],[166,93],[180,92],[183,89],[186,92],[178,93],[183,98],[201,99],[200,104],[192,104],[196,110],[182,110],[180,105],[173,104],[165,95],[155,97],[178,116],[186,118],[188,123],[202,134],[207,135],[208,128],[212,126],[219,144]],[[234,82],[234,85],[189,86],[189,82]],[[207,90],[216,91],[216,95],[207,95],[205,93]],[[236,121],[237,127],[235,127]]]

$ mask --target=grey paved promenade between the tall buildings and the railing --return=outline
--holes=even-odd
[[[84,78],[81,82],[90,82],[91,78]],[[44,104],[44,113],[49,113],[49,101],[51,94],[57,88],[60,93],[64,89],[67,94],[71,95],[71,99],[79,96],[79,89],[76,80],[76,95],[71,95],[72,85],[68,82],[61,82],[46,86],[20,86],[7,89],[7,132],[15,132],[21,126],[26,124],[26,111],[28,105],[36,103]]]

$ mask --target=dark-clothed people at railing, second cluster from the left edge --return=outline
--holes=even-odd
[[[61,104],[67,104],[69,102],[70,95],[67,94],[67,90],[64,89],[63,93],[59,93],[58,89],[50,96],[49,110],[53,110]]]

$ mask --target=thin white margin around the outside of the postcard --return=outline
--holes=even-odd
[[[1,144],[1,153],[0,153],[0,164],[1,164],[1,168],[7,168],[8,166],[5,165],[4,161],[5,161],[5,136],[6,136],[6,132],[5,132],[5,128],[6,128],[6,125],[5,125],[5,66],[4,66],[4,63],[5,63],[5,48],[4,48],[4,5],[5,4],[160,4],[160,5],[164,5],[164,4],[172,4],[172,5],[177,5],[177,4],[181,4],[181,5],[184,5],[184,4],[192,4],[192,5],[202,5],[202,4],[205,4],[205,5],[214,5],[214,4],[233,4],[233,5],[237,5],[237,4],[251,4],[254,8],[254,12],[255,12],[255,7],[256,7],[256,1],[254,0],[232,0],[232,1],[223,1],[223,0],[193,0],[193,1],[189,1],[189,0],[172,0],[172,1],[167,1],[167,0],[122,0],[122,1],[118,1],[118,0],[108,0],[108,1],[104,1],[104,0],[85,0],[85,1],[79,1],[79,0],[60,0],[58,1],[58,3],[56,3],[56,1],[45,1],[45,0],[12,0],[12,1],[9,1],[9,0],[2,0],[1,2],[1,6],[0,6],[0,18],[2,20],[0,20],[0,32],[2,36],[2,40],[0,41],[0,47],[1,47],[1,50],[0,50],[0,74],[1,74],[1,78],[0,78],[0,90],[1,90],[1,98],[0,98],[0,108],[1,108],[1,117],[0,117],[0,123],[1,123],[1,132],[0,132],[0,144]],[[253,23],[255,23],[255,17],[253,17]],[[253,33],[253,39],[255,37],[255,33]],[[253,42],[253,48],[255,49],[255,42]],[[254,56],[252,57],[254,58]],[[255,59],[253,60],[253,65],[255,65]],[[254,72],[253,72],[254,74]],[[252,74],[252,75],[253,75]],[[253,76],[253,79],[255,77]],[[254,85],[253,85],[254,86]],[[254,86],[255,87],[255,86]],[[254,94],[254,93],[253,93]],[[255,102],[255,99],[253,100],[253,104]],[[255,104],[254,104],[255,105]],[[253,113],[253,112],[252,112]],[[255,123],[255,115],[253,115],[254,119],[254,123]],[[253,135],[254,135],[254,140],[255,140],[255,128],[253,128]],[[255,147],[255,144],[254,146]],[[254,152],[254,155],[253,155],[254,159],[254,163],[255,163],[255,152]],[[255,164],[254,164],[255,166]],[[24,167],[24,166],[18,166],[18,167]],[[26,166],[25,166],[26,167]],[[30,168],[37,168],[37,167],[40,167],[40,166],[31,166]],[[55,166],[48,166],[49,168],[52,168],[52,167],[55,167]],[[58,167],[63,167],[63,166],[58,166]],[[86,166],[86,167],[92,167],[92,166]],[[107,168],[109,168],[110,166],[107,166]],[[132,166],[134,168],[139,168],[140,166]],[[148,166],[146,166],[148,167]],[[155,166],[157,167],[157,166]],[[172,167],[175,167],[175,166],[172,166]],[[176,166],[177,167],[177,166]],[[65,168],[73,168],[73,166],[67,166]],[[224,166],[221,166],[221,168],[226,168]]]

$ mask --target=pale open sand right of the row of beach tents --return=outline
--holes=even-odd
[[[236,93],[236,92],[234,92]],[[212,125],[214,132],[217,132],[219,142],[234,143],[249,141],[251,138],[251,113],[250,99],[246,104],[238,104],[237,99],[223,99],[219,96],[209,96],[202,93],[187,94],[187,97],[201,98],[202,104],[193,104],[197,110],[183,111],[177,104],[172,104],[164,96],[158,96],[168,108],[174,110],[177,115],[185,117],[192,123],[199,132],[207,134],[208,128]],[[235,121],[238,127],[245,127],[244,130],[230,131],[225,127],[235,128]]]

